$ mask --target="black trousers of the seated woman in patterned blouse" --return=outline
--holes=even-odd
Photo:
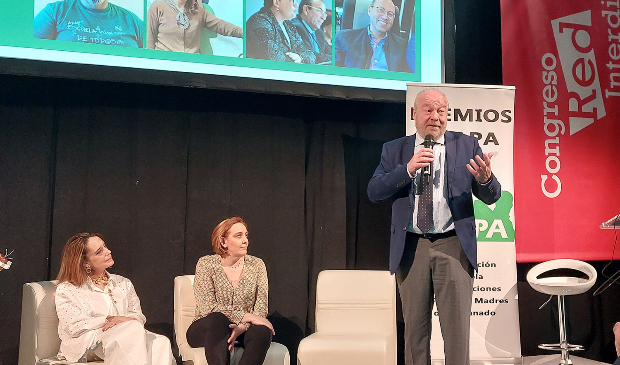
[[[228,338],[232,330],[231,321],[220,312],[213,312],[195,320],[187,328],[187,343],[192,347],[204,347],[206,362],[209,365],[229,365],[231,353],[228,351]],[[245,349],[239,365],[262,365],[271,345],[272,333],[265,326],[252,326],[237,337]]]

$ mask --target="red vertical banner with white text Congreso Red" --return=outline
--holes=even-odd
[[[516,86],[517,261],[609,260],[620,235],[620,0],[501,7],[503,82]]]

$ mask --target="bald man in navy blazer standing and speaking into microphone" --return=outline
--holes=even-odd
[[[477,268],[471,195],[492,204],[502,191],[491,172],[496,152],[483,154],[476,138],[446,131],[447,111],[440,90],[420,91],[413,111],[417,133],[385,143],[368,182],[371,201],[392,199],[389,270],[401,294],[407,365],[430,365],[433,295],[446,365],[469,364]]]

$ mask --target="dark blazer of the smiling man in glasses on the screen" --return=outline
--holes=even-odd
[[[368,69],[373,57],[368,27],[340,30],[334,37],[334,43],[336,66]],[[388,32],[383,51],[386,54],[388,71],[411,72],[405,56],[407,41],[404,38]]]

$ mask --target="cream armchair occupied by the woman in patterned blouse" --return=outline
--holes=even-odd
[[[185,337],[185,332],[192,324],[196,309],[193,279],[193,275],[183,275],[174,278],[174,332],[177,346],[179,346],[179,356],[183,363],[188,365],[207,365],[205,348],[191,347],[187,343],[187,337]],[[231,354],[231,364],[239,363],[242,353],[242,348],[234,348]],[[272,342],[263,365],[290,364],[290,354],[286,346]]]

